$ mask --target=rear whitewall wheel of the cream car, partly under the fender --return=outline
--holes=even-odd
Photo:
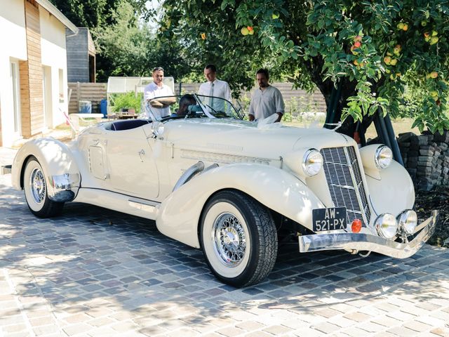
[[[38,218],[51,218],[60,215],[64,203],[48,198],[45,173],[39,161],[31,157],[25,165],[23,190],[29,211]]]

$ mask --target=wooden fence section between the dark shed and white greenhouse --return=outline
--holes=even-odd
[[[69,89],[72,89],[72,94],[70,95],[69,100],[69,114],[76,114],[78,112],[80,100],[90,100],[92,103],[92,112],[100,112],[100,100],[106,98],[107,84],[69,83]]]

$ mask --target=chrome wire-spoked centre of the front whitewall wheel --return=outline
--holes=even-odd
[[[232,213],[220,214],[213,224],[213,248],[227,267],[236,267],[246,251],[245,231]]]

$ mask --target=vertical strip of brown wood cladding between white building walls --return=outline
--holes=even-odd
[[[25,1],[27,61],[21,61],[20,98],[22,100],[22,136],[30,137],[45,126],[41,62],[41,26],[39,8]],[[23,109],[25,107],[25,110]]]

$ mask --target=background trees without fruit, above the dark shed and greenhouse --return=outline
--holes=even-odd
[[[97,48],[97,79],[109,76],[150,76],[163,65],[180,80],[191,72],[177,41],[163,44],[155,29],[140,20],[151,13],[143,0],[51,0],[78,27],[88,27]],[[148,12],[150,11],[150,12]]]

